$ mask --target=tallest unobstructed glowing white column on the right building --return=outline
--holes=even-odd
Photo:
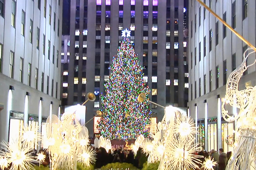
[[[222,139],[221,139],[221,100],[220,95],[217,95],[218,99],[218,115],[217,115],[217,148],[222,148]]]

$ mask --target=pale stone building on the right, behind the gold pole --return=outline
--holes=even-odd
[[[247,41],[255,45],[255,1],[204,0],[217,15]],[[223,148],[233,151],[235,122],[226,122],[221,104],[226,83],[232,71],[242,63],[248,46],[218,21],[197,1],[189,4],[189,113],[195,119],[199,135],[197,141],[207,151]],[[248,57],[252,64],[255,55]],[[255,65],[244,72],[239,90],[255,86]],[[234,101],[231,101],[234,102]],[[239,109],[226,107],[229,115]]]

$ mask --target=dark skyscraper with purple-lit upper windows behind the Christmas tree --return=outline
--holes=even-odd
[[[94,92],[96,100],[86,104],[86,120],[93,118],[101,107],[99,95],[105,91],[112,56],[127,28],[145,68],[144,81],[152,89],[150,100],[186,107],[187,5],[186,0],[70,1],[70,34],[62,36],[62,105],[82,104],[86,94]],[[161,121],[163,109],[154,104],[151,108]],[[92,133],[93,121],[87,127]]]

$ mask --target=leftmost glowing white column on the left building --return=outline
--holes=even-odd
[[[7,99],[7,113],[5,120],[6,126],[4,132],[4,140],[9,140],[10,111],[12,110],[12,90],[14,90],[14,87],[10,86]]]

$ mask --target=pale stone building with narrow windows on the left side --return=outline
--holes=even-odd
[[[0,141],[58,114],[61,21],[61,0],[0,0]]]

